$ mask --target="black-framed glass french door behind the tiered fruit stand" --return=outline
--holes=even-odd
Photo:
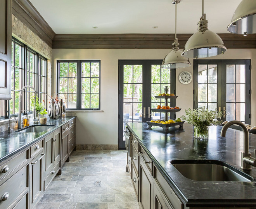
[[[118,145],[125,149],[126,122],[146,122],[162,116],[151,108],[164,105],[155,95],[168,86],[175,93],[175,70],[162,69],[162,60],[119,60]],[[170,101],[175,107],[175,100]],[[172,119],[175,115],[169,115]]]

